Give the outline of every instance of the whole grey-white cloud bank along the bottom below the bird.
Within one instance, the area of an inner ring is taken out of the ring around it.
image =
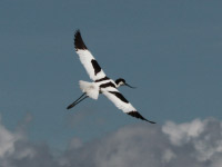
[[[57,156],[21,129],[10,131],[0,121],[1,167],[222,166],[222,121],[214,118],[131,125],[87,144],[73,138]]]

